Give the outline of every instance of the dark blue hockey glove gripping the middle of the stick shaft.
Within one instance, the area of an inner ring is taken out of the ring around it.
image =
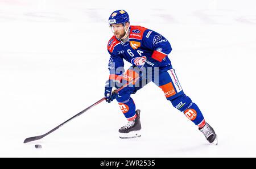
[[[117,98],[117,92],[112,91],[113,89],[118,87],[118,82],[114,82],[113,80],[108,80],[105,85],[105,97],[106,102],[110,103],[115,98]]]

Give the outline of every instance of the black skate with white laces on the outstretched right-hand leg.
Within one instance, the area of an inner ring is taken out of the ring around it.
[[[209,141],[209,143],[218,145],[217,134],[214,132],[213,128],[207,122],[205,122],[203,128],[199,128],[199,130],[204,134],[205,138]]]

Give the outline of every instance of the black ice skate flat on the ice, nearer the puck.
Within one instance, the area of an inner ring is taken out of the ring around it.
[[[137,109],[136,111],[136,119],[133,121],[129,121],[126,125],[122,126],[119,129],[119,137],[120,138],[135,138],[141,137],[141,121],[139,117],[139,113],[141,111]]]

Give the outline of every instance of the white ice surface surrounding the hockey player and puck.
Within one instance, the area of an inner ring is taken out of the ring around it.
[[[118,9],[170,41],[181,86],[218,146],[151,83],[133,95],[141,138],[118,137],[126,119],[115,101],[23,143],[104,96]],[[255,157],[255,30],[253,0],[0,1],[0,157]]]

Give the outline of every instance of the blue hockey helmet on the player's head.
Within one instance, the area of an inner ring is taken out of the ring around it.
[[[125,10],[116,10],[112,12],[112,14],[109,16],[109,24],[118,24],[122,23],[123,26],[125,26],[125,23],[129,22],[129,15]]]

